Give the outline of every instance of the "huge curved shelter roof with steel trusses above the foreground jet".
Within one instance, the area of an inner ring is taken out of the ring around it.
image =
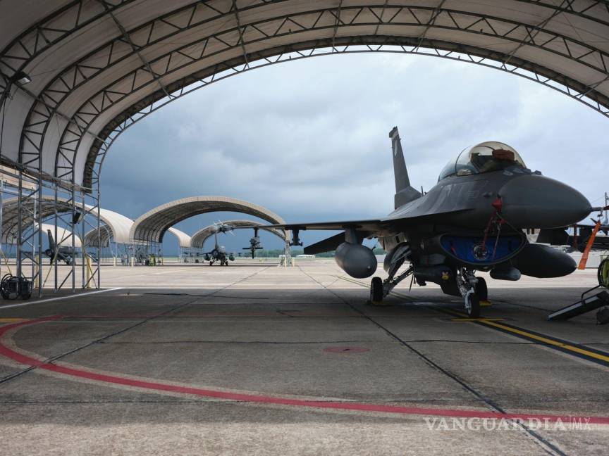
[[[0,158],[88,187],[113,139],[147,113],[320,53],[488,65],[609,115],[607,37],[609,0],[4,0]],[[10,83],[20,71],[23,87]]]

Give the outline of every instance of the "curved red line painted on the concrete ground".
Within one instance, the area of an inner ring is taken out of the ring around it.
[[[7,324],[6,326],[0,327],[0,338],[6,334],[7,331],[16,327],[23,327],[29,324],[37,324],[42,322],[49,322],[54,319],[61,317],[49,317],[40,318],[34,320],[28,320],[25,322],[17,322],[13,324]],[[238,400],[242,402],[250,403],[261,403],[261,404],[273,404],[273,405],[291,405],[295,407],[314,407],[314,408],[325,408],[333,410],[356,410],[359,412],[381,412],[390,414],[405,414],[405,415],[433,415],[441,417],[459,417],[459,418],[481,418],[481,419],[519,419],[522,421],[528,421],[533,419],[541,420],[542,422],[574,422],[576,420],[584,420],[589,424],[609,424],[609,417],[583,417],[583,416],[572,416],[572,415],[553,415],[553,414],[529,414],[529,413],[499,413],[499,412],[484,412],[481,410],[459,410],[459,409],[436,409],[436,408],[425,408],[425,407],[401,407],[398,405],[379,405],[379,404],[366,404],[366,403],[352,403],[352,402],[336,402],[336,401],[321,401],[321,400],[305,400],[305,399],[292,399],[292,398],[280,398],[276,396],[268,395],[257,395],[257,394],[245,394],[245,393],[231,393],[228,391],[215,391],[204,388],[194,388],[190,386],[176,386],[170,384],[162,384],[156,381],[141,381],[134,379],[126,379],[121,376],[96,374],[94,372],[87,372],[80,369],[73,369],[70,367],[64,367],[61,365],[52,364],[50,362],[39,361],[33,357],[18,353],[11,348],[8,348],[0,341],[0,355],[8,357],[9,359],[20,362],[23,365],[29,365],[37,367],[39,369],[45,369],[50,372],[56,372],[68,376],[74,376],[81,379],[90,379],[94,381],[101,381],[107,384],[133,386],[136,388],[145,388],[152,391],[168,391],[171,393],[182,393],[189,395],[198,395],[206,398],[217,398],[226,400]]]

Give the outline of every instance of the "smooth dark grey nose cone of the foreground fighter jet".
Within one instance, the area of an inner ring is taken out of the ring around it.
[[[576,189],[540,175],[511,179],[498,192],[502,216],[517,228],[558,228],[582,220],[591,204]]]

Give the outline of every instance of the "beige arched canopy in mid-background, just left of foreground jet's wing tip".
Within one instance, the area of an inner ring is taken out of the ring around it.
[[[163,242],[165,232],[176,223],[211,212],[238,212],[273,224],[285,223],[276,213],[254,203],[226,196],[191,196],[165,203],[141,215],[133,223],[129,236],[135,242]],[[190,239],[187,247],[190,247]]]

